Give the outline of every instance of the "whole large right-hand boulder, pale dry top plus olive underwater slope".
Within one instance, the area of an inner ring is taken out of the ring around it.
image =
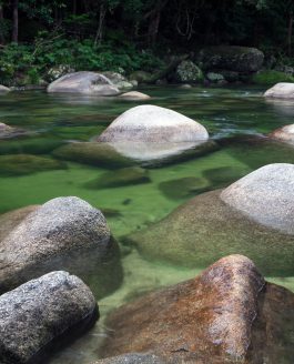
[[[239,185],[235,182],[223,193],[200,194],[162,221],[130,234],[124,242],[134,244],[149,259],[193,267],[241,253],[253,259],[264,274],[291,276],[294,274],[294,220],[290,213],[294,166],[283,168],[283,164],[268,165],[241,179],[244,193],[239,189],[234,192],[234,185]],[[230,196],[235,200],[231,202]]]

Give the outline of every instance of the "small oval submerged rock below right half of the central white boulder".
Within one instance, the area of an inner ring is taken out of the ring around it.
[[[193,196],[193,194],[203,192],[207,186],[207,180],[194,176],[164,181],[159,184],[161,192],[172,200]]]

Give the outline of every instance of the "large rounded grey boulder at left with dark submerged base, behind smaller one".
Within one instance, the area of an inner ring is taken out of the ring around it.
[[[0,292],[52,270],[67,270],[104,295],[120,285],[119,250],[100,210],[79,198],[48,201],[0,245]]]

